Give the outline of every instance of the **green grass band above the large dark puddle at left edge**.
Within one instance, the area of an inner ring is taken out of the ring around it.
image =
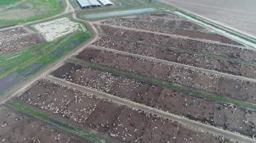
[[[43,66],[51,64],[90,38],[90,31],[76,31],[73,34],[65,36],[65,38],[52,42],[45,41],[42,44],[31,46],[24,51],[19,51],[14,55],[1,55],[0,79],[14,71],[22,72],[33,64],[41,64]]]

